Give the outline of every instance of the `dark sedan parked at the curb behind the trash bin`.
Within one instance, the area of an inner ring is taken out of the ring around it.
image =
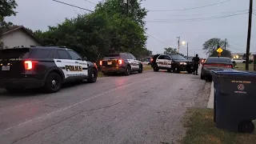
[[[201,79],[211,78],[210,70],[217,69],[234,69],[234,65],[227,57],[209,57],[202,63]]]

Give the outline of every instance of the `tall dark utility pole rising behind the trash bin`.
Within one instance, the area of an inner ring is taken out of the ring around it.
[[[251,21],[253,14],[253,0],[250,0],[249,6],[249,20],[248,20],[248,34],[247,34],[247,46],[246,46],[246,70],[249,70],[249,53],[250,53],[250,33],[251,33]]]

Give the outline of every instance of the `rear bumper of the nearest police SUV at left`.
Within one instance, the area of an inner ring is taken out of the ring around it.
[[[0,87],[31,89],[44,86],[46,81],[35,78],[2,78]]]

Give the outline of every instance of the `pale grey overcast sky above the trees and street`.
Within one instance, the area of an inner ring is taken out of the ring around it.
[[[81,6],[88,10],[94,10],[94,4],[98,0],[59,0],[75,6]],[[242,53],[246,51],[246,38],[248,27],[249,0],[146,0],[142,6],[148,12],[146,16],[147,33],[151,36],[147,40],[147,48],[154,54],[163,53],[163,48],[178,46],[177,37],[181,42],[189,42],[189,55],[194,53],[206,58],[202,50],[202,44],[210,38],[227,38],[232,52]],[[16,25],[29,27],[32,30],[47,30],[47,26],[56,26],[63,22],[64,18],[73,18],[77,14],[88,13],[66,6],[52,0],[16,0],[18,14],[15,17],[6,18]],[[209,6],[218,2],[219,5]],[[255,1],[254,1],[255,4]],[[206,6],[203,8],[190,8]],[[256,6],[254,6],[255,8]],[[184,10],[185,9],[185,10]],[[171,11],[154,11],[171,10]],[[230,16],[232,14],[240,14]],[[256,14],[256,8],[254,10]],[[256,20],[253,15],[252,35],[250,51],[256,52]],[[222,17],[222,18],[220,18]],[[224,18],[223,18],[224,17]],[[210,20],[209,20],[210,19]],[[180,49],[186,54],[186,46]]]

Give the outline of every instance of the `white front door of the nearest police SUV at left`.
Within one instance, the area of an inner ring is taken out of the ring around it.
[[[73,50],[68,50],[71,61],[77,68],[74,69],[74,74],[78,76],[88,76],[88,65],[86,61],[82,61],[82,57]]]

